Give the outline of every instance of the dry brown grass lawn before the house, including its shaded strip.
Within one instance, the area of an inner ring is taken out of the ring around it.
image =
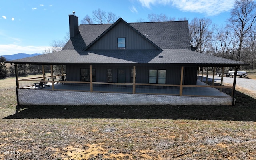
[[[255,160],[256,99],[235,106],[18,106],[0,80],[0,160]]]

